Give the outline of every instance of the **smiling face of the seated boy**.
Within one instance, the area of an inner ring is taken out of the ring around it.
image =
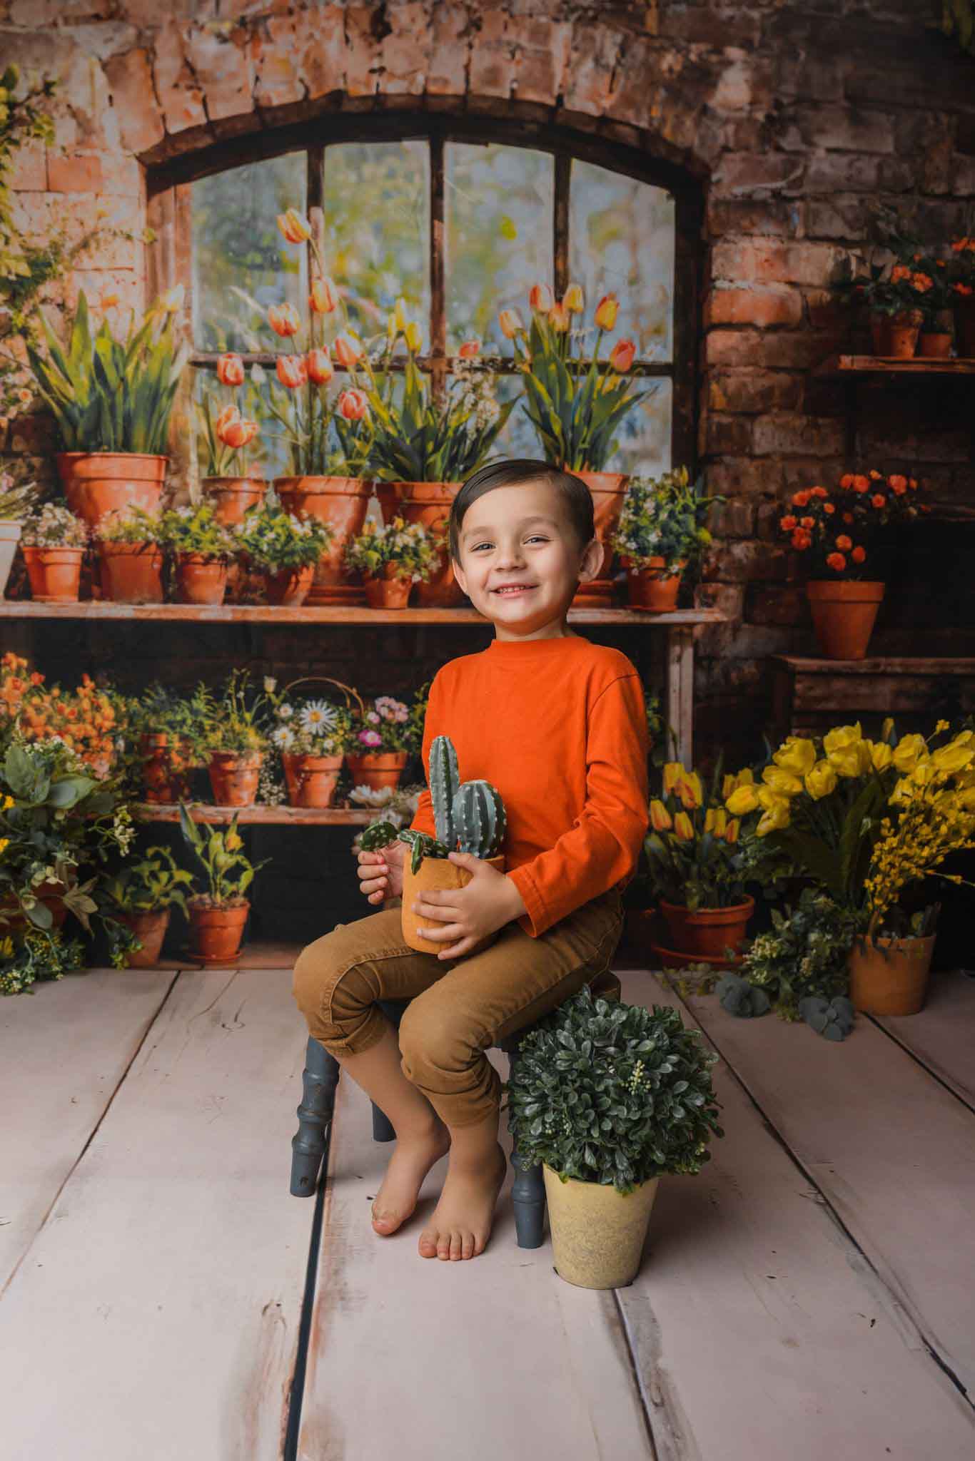
[[[510,625],[519,637],[564,619],[580,580],[595,579],[602,543],[592,538],[579,549],[561,495],[548,482],[496,487],[463,516],[458,583],[503,637]],[[503,584],[517,593],[500,593]]]

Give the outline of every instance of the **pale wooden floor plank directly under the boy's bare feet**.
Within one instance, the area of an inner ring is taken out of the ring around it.
[[[491,1059],[506,1078],[501,1052]],[[446,1157],[412,1218],[390,1237],[373,1232],[390,1151],[373,1141],[364,1093],[339,1080],[301,1461],[649,1461],[614,1297],[563,1283],[548,1239],[517,1248],[510,1166],[487,1249],[441,1262],[417,1240]]]

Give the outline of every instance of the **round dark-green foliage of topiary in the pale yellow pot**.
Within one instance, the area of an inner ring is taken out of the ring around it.
[[[507,1083],[519,1160],[617,1192],[700,1172],[712,1134],[724,1137],[716,1062],[677,1010],[593,999],[586,986],[520,1042]]]

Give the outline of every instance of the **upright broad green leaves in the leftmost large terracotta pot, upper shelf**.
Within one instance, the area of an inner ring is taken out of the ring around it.
[[[48,355],[28,343],[28,358],[44,402],[54,413],[64,451],[146,451],[165,454],[170,415],[189,345],[175,343],[174,305],[162,295],[124,340],[104,318],[92,335],[82,289],[67,348],[41,314]]]

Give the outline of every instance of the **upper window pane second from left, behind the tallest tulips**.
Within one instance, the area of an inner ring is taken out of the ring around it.
[[[344,142],[325,149],[325,267],[346,295],[349,321],[386,330],[399,295],[430,348],[430,148]],[[401,345],[402,348],[402,345]]]

